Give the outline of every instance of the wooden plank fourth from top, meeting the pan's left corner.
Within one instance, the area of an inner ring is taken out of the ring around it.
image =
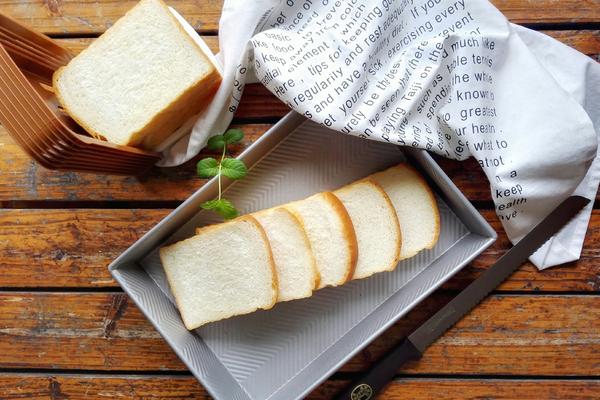
[[[107,265],[170,210],[0,210],[0,287],[117,287]],[[499,237],[444,285],[460,290],[510,248],[498,219],[482,211]],[[499,290],[600,291],[600,210],[594,210],[581,259],[539,272],[523,265]]]

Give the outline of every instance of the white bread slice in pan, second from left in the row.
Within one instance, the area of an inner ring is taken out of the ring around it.
[[[310,297],[320,280],[302,224],[290,211],[282,207],[252,214],[267,234],[279,283],[277,301]]]

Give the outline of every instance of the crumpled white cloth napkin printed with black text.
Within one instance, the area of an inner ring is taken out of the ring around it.
[[[222,133],[258,80],[334,130],[475,157],[513,243],[569,195],[596,195],[600,65],[486,0],[226,0],[219,28],[223,84],[164,166]],[[591,210],[531,261],[578,259]]]

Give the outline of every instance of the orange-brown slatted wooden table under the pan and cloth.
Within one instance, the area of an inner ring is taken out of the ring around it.
[[[598,0],[494,2],[513,22],[598,59]],[[216,51],[221,0],[169,3]],[[0,0],[0,12],[79,51],[133,4]],[[247,88],[235,120],[246,139],[237,150],[286,112],[264,88]],[[311,398],[329,398],[509,248],[478,166],[439,162],[499,232],[497,243]],[[106,268],[203,183],[193,164],[143,179],[48,171],[0,127],[0,398],[208,397]],[[600,398],[598,257],[594,210],[579,262],[544,272],[523,266],[420,362],[398,371],[382,398]]]

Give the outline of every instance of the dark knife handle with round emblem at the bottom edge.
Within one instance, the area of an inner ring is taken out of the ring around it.
[[[390,382],[398,369],[407,361],[418,360],[421,352],[408,338],[389,354],[377,361],[371,369],[352,382],[336,400],[370,400]]]

